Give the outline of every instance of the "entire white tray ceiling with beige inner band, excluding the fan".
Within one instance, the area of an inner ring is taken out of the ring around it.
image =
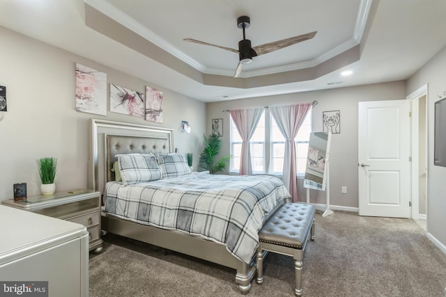
[[[444,0],[85,2],[2,0],[0,26],[203,102],[407,79],[446,46]],[[233,79],[237,54],[183,38],[238,49],[241,15],[253,46],[318,33]]]

